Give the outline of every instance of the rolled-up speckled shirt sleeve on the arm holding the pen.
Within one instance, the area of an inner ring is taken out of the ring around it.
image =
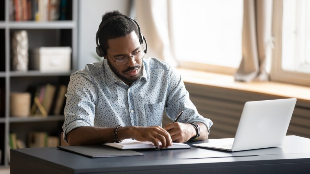
[[[185,89],[182,77],[174,68],[170,68],[169,76],[170,81],[166,102],[167,116],[174,120],[180,111],[184,111],[178,120],[180,123],[201,122],[206,125],[208,133],[210,133],[210,127],[213,125],[213,122],[198,113],[195,105],[189,99],[189,94]]]

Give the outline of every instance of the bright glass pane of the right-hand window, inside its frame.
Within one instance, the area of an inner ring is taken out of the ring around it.
[[[310,73],[310,1],[283,1],[282,69]]]

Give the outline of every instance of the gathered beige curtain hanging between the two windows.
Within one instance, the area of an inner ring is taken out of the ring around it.
[[[242,60],[235,80],[266,81],[267,60],[271,56],[272,0],[244,0]]]

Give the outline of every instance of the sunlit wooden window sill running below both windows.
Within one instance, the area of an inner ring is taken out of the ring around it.
[[[256,94],[267,94],[281,98],[297,98],[302,102],[310,102],[310,87],[306,86],[270,81],[245,83],[235,81],[232,75],[195,71],[184,68],[177,68],[177,70],[181,74],[183,81],[186,83],[237,91],[247,91]]]

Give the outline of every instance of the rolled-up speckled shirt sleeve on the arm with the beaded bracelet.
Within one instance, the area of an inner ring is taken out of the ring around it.
[[[76,72],[70,76],[62,127],[66,142],[67,133],[74,128],[94,126],[96,90],[91,80],[85,72]]]

